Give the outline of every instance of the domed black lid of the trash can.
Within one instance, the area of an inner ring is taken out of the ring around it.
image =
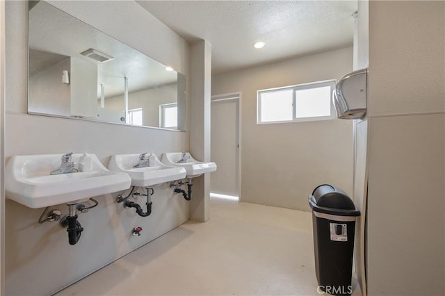
[[[329,184],[317,186],[309,195],[309,206],[313,211],[333,215],[359,216],[354,202],[346,192]]]

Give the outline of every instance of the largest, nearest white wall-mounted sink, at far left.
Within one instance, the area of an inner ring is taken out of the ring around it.
[[[74,204],[97,195],[126,190],[130,187],[127,174],[106,169],[95,154],[91,172],[50,175],[60,166],[62,154],[12,156],[6,165],[6,198],[29,208],[56,204]],[[79,163],[83,154],[72,154]]]

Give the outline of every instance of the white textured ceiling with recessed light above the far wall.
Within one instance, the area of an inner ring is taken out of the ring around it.
[[[350,46],[357,10],[357,0],[137,2],[188,42],[209,41],[213,74]]]

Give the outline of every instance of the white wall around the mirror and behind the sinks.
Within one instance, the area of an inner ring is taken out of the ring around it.
[[[188,73],[186,42],[136,2],[54,4]],[[184,132],[26,115],[27,13],[26,1],[6,2],[6,161],[15,154],[63,154],[88,149],[108,165],[113,154],[153,150],[161,157],[164,151],[188,149],[188,133]],[[43,208],[31,209],[7,200],[6,295],[51,295],[188,220],[188,202],[173,195],[168,186],[155,188],[149,217],[139,217],[122,204],[115,204],[117,194],[97,197],[99,206],[79,215],[85,230],[74,246],[67,242],[66,229],[57,223],[38,224]],[[144,204],[143,199],[139,203]],[[54,208],[67,213],[65,205]],[[136,226],[143,227],[140,237],[131,236]],[[123,271],[122,277],[131,277],[131,273]]]

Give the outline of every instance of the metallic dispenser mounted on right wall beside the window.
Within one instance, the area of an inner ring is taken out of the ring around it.
[[[360,69],[341,77],[335,85],[334,100],[337,117],[362,119],[366,115],[368,69]]]

